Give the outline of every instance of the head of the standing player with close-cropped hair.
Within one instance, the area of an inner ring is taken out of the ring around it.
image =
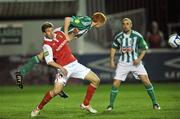
[[[124,33],[128,33],[131,31],[132,21],[130,18],[124,18],[121,23],[122,23],[122,30]]]

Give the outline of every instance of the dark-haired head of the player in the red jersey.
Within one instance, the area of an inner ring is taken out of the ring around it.
[[[41,30],[44,34],[44,36],[46,36],[47,38],[52,39],[54,37],[54,25],[50,22],[45,22],[43,23],[43,25],[41,26]]]

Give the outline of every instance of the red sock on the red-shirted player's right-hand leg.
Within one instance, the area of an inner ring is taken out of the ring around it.
[[[86,92],[86,97],[84,99],[83,104],[85,106],[89,105],[89,102],[95,92],[96,88],[94,86],[92,86],[91,84],[88,86],[87,92]]]

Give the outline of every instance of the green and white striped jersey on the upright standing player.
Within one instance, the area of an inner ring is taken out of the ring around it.
[[[140,50],[147,50],[148,46],[143,36],[132,30],[129,35],[120,32],[114,37],[112,48],[119,49],[119,61],[131,63],[139,56]]]

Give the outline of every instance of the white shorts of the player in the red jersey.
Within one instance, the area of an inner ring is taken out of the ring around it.
[[[85,76],[91,71],[89,68],[85,67],[84,65],[80,64],[77,60],[65,65],[63,68],[65,68],[68,72],[66,77],[61,76],[61,72],[57,72],[55,83],[61,83],[64,86],[66,85],[67,80],[70,77],[84,79]]]

